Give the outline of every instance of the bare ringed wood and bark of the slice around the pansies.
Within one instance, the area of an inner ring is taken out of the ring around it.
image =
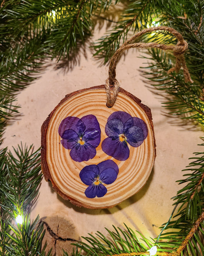
[[[107,138],[107,119],[115,111],[125,111],[132,117],[144,120],[148,128],[147,138],[139,147],[128,145],[130,155],[126,161],[116,160],[101,149],[102,141]],[[93,159],[76,162],[70,157],[70,150],[65,149],[60,143],[58,128],[67,116],[82,118],[86,115],[96,116],[101,128],[101,142]],[[104,85],[66,95],[44,121],[41,134],[42,171],[46,181],[51,181],[54,190],[62,198],[86,208],[110,208],[137,193],[145,185],[156,156],[150,108],[122,88],[112,108],[106,106]],[[117,179],[112,184],[105,185],[108,191],[103,197],[87,198],[85,190],[88,186],[81,181],[80,171],[87,165],[98,165],[109,159],[118,165]]]

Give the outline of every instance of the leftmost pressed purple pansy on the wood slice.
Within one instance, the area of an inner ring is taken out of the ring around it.
[[[100,125],[96,116],[68,116],[60,123],[58,132],[62,145],[70,149],[70,156],[74,161],[88,161],[96,155],[96,147],[101,140]]]

